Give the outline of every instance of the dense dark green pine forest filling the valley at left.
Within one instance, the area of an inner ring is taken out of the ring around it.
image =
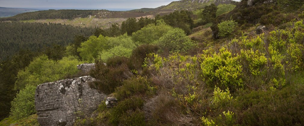
[[[0,61],[20,49],[36,51],[44,47],[68,45],[75,35],[90,36],[94,28],[47,23],[0,22]]]

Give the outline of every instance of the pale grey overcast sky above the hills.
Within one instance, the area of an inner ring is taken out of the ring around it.
[[[156,8],[178,0],[0,0],[15,8]],[[239,1],[239,0],[235,0]]]

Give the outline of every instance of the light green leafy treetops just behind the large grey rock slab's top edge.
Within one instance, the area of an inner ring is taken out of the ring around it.
[[[56,62],[48,59],[46,55],[41,55],[24,70],[18,72],[15,90],[23,89],[26,85],[37,86],[63,79],[67,75],[74,75],[78,72],[77,65],[79,64],[81,62],[73,56],[64,57]]]

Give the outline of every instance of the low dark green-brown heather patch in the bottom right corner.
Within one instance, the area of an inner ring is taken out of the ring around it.
[[[276,91],[251,91],[233,102],[240,125],[303,125],[303,86],[290,85]]]

